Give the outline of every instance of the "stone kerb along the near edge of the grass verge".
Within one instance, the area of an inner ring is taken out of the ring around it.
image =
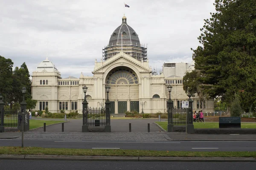
[[[147,157],[147,156],[64,156],[64,155],[0,155],[0,159],[72,160],[72,161],[200,161],[200,162],[256,162],[241,157]]]

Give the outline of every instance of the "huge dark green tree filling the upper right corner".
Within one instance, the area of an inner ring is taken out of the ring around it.
[[[230,101],[239,93],[244,111],[256,107],[256,1],[215,0],[193,50],[204,93]],[[253,105],[253,106],[252,106]]]

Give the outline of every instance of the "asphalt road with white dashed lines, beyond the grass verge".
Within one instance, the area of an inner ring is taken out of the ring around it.
[[[21,139],[0,139],[0,146],[21,146]],[[24,140],[25,147],[117,148],[169,151],[256,151],[256,141],[83,141]]]

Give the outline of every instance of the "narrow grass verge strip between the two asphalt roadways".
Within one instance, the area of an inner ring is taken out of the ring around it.
[[[168,156],[168,157],[254,157],[256,152],[190,152],[155,150],[67,149],[42,147],[0,147],[0,154],[73,156]]]

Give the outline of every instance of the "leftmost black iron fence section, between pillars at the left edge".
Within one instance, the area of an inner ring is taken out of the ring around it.
[[[12,110],[12,109],[4,110],[3,126],[4,127],[17,127],[19,112],[20,112],[20,110]]]

